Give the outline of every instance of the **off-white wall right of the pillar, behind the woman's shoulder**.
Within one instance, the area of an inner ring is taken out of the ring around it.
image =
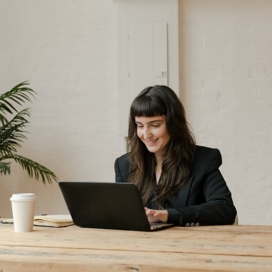
[[[272,224],[272,1],[180,0],[180,97],[240,224]]]

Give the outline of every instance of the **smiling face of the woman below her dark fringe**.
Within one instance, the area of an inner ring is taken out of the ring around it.
[[[170,140],[166,129],[166,116],[135,117],[137,135],[147,147],[149,152],[155,155],[163,155],[165,146]]]

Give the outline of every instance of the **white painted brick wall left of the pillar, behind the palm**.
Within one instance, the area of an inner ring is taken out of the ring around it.
[[[114,181],[125,153],[117,126],[117,15],[113,0],[1,0],[0,92],[29,80],[38,92],[18,153],[60,180]],[[36,213],[65,213],[57,183],[28,178],[14,162],[0,177],[0,216],[15,192],[37,194]]]

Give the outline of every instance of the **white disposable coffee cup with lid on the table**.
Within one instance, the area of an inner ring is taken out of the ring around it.
[[[14,193],[10,197],[15,232],[33,231],[35,193]]]

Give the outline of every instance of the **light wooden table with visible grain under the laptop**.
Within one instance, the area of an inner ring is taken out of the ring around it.
[[[0,224],[0,271],[272,271],[272,226],[155,232]]]

